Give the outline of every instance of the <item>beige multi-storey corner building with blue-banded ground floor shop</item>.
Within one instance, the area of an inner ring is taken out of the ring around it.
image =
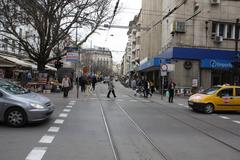
[[[235,64],[240,1],[143,0],[142,4],[141,24],[150,30],[141,35],[140,57],[148,61],[141,63],[140,71],[157,81],[155,85],[162,84],[162,64],[175,68],[165,79],[176,81],[179,88],[239,84]]]

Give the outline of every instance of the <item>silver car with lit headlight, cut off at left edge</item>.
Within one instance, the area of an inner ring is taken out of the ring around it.
[[[0,121],[21,127],[28,122],[45,120],[53,111],[47,97],[0,79]]]

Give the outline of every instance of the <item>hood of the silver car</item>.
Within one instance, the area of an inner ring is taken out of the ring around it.
[[[30,92],[26,94],[18,94],[11,97],[14,98],[15,100],[29,102],[29,103],[46,104],[50,102],[50,100],[47,97],[34,92]]]

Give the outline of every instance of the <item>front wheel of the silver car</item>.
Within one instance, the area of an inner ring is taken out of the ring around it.
[[[5,121],[9,126],[22,127],[27,122],[27,116],[21,108],[11,108],[5,114]]]

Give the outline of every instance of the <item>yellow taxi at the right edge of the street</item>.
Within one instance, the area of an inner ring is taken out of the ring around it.
[[[240,86],[213,86],[189,97],[188,105],[195,111],[240,111]]]

